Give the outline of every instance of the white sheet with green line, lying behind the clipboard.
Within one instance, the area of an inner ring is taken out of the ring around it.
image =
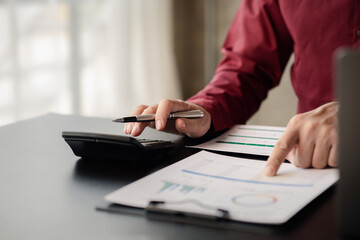
[[[284,127],[235,125],[217,138],[188,147],[269,156],[284,131]]]

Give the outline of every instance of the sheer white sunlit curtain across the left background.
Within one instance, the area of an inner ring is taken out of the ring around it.
[[[0,124],[181,98],[170,0],[0,3]]]

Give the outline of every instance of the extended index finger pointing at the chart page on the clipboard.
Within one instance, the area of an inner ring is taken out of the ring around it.
[[[266,176],[275,176],[281,163],[284,162],[288,153],[292,150],[299,140],[299,132],[293,128],[287,128],[267,160],[264,174]]]

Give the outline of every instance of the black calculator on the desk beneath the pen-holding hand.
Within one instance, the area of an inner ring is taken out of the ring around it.
[[[175,147],[171,141],[102,133],[65,131],[62,132],[62,137],[76,156],[91,159],[149,157]]]

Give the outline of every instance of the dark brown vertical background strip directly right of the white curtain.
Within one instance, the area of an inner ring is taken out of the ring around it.
[[[204,87],[204,1],[173,1],[175,55],[185,99]]]

